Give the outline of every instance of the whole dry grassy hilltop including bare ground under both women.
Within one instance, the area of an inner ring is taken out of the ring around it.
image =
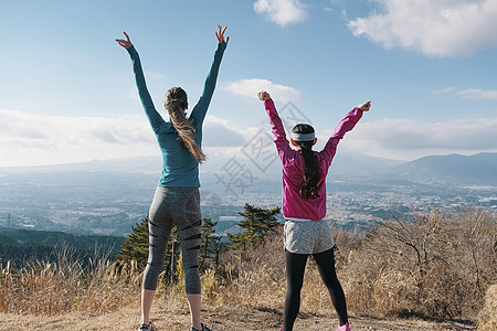
[[[494,213],[474,210],[393,220],[362,236],[334,228],[336,268],[352,330],[457,330],[457,320],[495,325],[496,226]],[[134,249],[141,252],[141,245]],[[277,330],[286,293],[278,228],[261,244],[211,253],[201,271],[205,322],[218,331]],[[133,330],[147,256],[137,258],[88,257],[86,267],[70,258],[1,266],[0,329]],[[181,263],[170,266],[160,278],[152,318],[161,330],[184,330],[184,276]],[[334,330],[336,324],[329,295],[309,259],[297,328]]]

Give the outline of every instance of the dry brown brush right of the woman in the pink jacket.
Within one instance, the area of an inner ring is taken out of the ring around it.
[[[414,223],[381,224],[348,256],[341,271],[358,311],[475,319],[497,281],[496,215],[433,212]],[[353,280],[353,281],[350,281]]]

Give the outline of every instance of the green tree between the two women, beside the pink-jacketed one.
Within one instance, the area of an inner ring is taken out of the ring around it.
[[[272,232],[278,225],[275,215],[279,214],[279,207],[265,210],[245,203],[244,209],[243,213],[239,212],[240,215],[245,217],[239,222],[239,226],[245,229],[239,234],[228,234],[233,243],[230,248],[257,245],[264,239],[266,233]]]

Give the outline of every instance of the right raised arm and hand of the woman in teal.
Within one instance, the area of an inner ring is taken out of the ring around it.
[[[218,31],[215,32],[215,38],[218,40],[218,50],[214,53],[214,60],[212,62],[211,70],[209,71],[209,74],[205,78],[203,93],[190,115],[190,118],[194,119],[199,124],[203,122],[207,110],[209,108],[209,104],[212,99],[212,95],[214,94],[219,67],[221,65],[224,50],[226,49],[228,42],[230,40],[229,36],[226,36],[226,39],[224,40],[224,32],[226,31],[226,28],[228,26],[224,26],[224,29],[222,29],[221,25],[218,25]]]

